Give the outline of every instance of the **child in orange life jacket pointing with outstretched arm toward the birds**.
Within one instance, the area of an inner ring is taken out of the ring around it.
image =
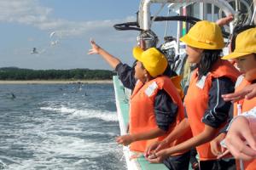
[[[89,54],[100,54],[119,75],[125,88],[133,90],[130,101],[129,134],[119,136],[119,144],[131,144],[131,150],[144,152],[148,144],[161,141],[184,118],[183,102],[172,84],[170,66],[164,54],[157,48],[134,48],[137,59],[135,70],[124,65],[113,55],[91,41]],[[190,137],[176,139],[171,145],[178,144]],[[170,169],[187,169],[189,151],[177,153],[165,161]]]

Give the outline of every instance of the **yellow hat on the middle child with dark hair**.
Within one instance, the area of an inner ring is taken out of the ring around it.
[[[189,32],[180,38],[191,47],[201,49],[222,49],[224,38],[220,27],[214,22],[201,20],[192,26]]]

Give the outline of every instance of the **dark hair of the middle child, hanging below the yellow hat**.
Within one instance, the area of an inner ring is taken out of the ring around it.
[[[197,64],[198,78],[199,80],[203,76],[207,76],[207,73],[211,71],[212,65],[220,58],[221,49],[205,49],[202,53],[201,60]]]

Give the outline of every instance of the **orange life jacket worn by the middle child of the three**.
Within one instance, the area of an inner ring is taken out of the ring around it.
[[[189,89],[184,99],[193,136],[197,136],[204,131],[205,124],[201,122],[201,119],[208,108],[209,91],[212,88],[212,79],[228,77],[233,82],[236,82],[238,76],[239,71],[237,71],[229,61],[221,59],[218,59],[212,66],[212,70],[206,77],[202,77],[200,81],[198,81],[197,71],[195,71],[189,82]],[[221,98],[221,96],[219,97]],[[196,150],[201,161],[217,159],[217,157],[212,154],[209,142],[197,146]]]

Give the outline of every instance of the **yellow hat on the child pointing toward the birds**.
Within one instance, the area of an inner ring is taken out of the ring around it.
[[[148,48],[145,51],[142,48],[133,48],[133,56],[143,63],[151,77],[157,77],[166,71],[168,65],[166,56],[156,48]]]

